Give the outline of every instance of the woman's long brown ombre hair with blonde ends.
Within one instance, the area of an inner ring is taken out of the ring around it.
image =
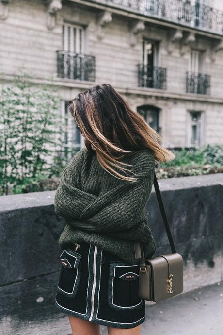
[[[162,137],[110,84],[96,85],[79,93],[69,101],[68,108],[85,137],[87,150],[94,148],[101,167],[119,179],[137,180],[112,168],[132,172],[121,166],[131,166],[120,161],[126,154],[151,149],[156,163],[175,158],[161,146]]]

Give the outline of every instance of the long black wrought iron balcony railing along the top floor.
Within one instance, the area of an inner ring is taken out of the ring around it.
[[[194,0],[91,0],[200,30],[223,33],[223,11]]]

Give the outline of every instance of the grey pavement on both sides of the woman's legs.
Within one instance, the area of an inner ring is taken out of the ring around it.
[[[25,314],[3,317],[0,334],[71,335],[67,316],[52,306]],[[101,331],[107,335],[106,327]],[[223,335],[223,282],[147,306],[142,335]]]

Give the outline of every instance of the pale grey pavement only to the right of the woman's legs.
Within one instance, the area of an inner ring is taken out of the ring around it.
[[[142,335],[223,335],[223,282],[147,307]]]

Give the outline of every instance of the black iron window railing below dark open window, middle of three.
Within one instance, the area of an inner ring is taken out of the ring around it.
[[[163,67],[138,64],[138,85],[166,89],[166,69]]]

